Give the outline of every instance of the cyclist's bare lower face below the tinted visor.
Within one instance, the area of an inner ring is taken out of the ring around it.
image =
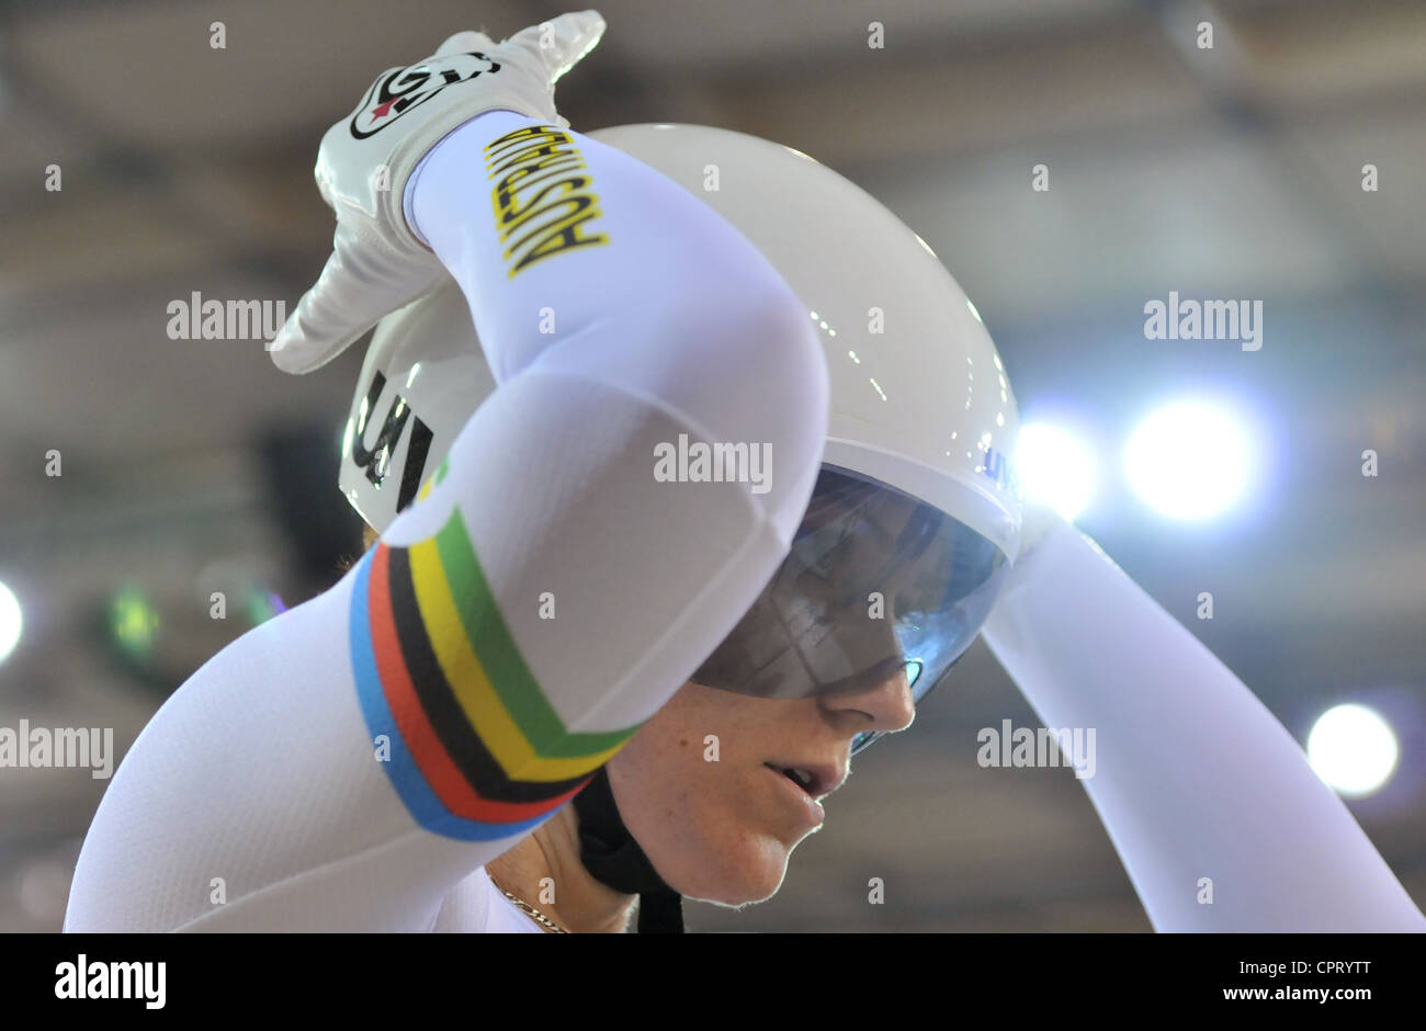
[[[690,682],[609,761],[609,783],[670,887],[724,906],[763,901],[793,848],[820,829],[811,796],[846,779],[853,739],[903,730],[913,717],[904,670],[820,699],[757,699]],[[787,767],[817,780],[800,787]]]

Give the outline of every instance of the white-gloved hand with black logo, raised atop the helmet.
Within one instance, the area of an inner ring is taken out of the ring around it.
[[[317,185],[337,212],[332,257],[268,345],[287,372],[329,362],[445,270],[406,225],[402,198],[421,158],[463,123],[505,110],[568,128],[555,83],[599,43],[597,11],[560,14],[496,44],[456,33],[419,64],[388,68],[317,153]]]

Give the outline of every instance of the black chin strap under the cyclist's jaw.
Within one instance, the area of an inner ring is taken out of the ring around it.
[[[579,858],[595,880],[639,896],[639,934],[683,934],[683,897],[663,883],[625,827],[603,769],[575,796]]]

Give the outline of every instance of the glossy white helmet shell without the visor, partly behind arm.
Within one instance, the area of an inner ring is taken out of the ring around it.
[[[1015,559],[1015,395],[974,305],[920,237],[856,184],[767,140],[670,124],[589,135],[713,207],[803,301],[831,382],[826,463],[935,505]],[[386,529],[493,388],[453,281],[382,319],[339,476],[368,523]]]

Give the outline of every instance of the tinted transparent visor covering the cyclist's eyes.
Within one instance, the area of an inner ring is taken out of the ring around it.
[[[920,702],[980,633],[1008,569],[941,509],[824,465],[783,565],[693,680],[796,699],[904,674]]]

